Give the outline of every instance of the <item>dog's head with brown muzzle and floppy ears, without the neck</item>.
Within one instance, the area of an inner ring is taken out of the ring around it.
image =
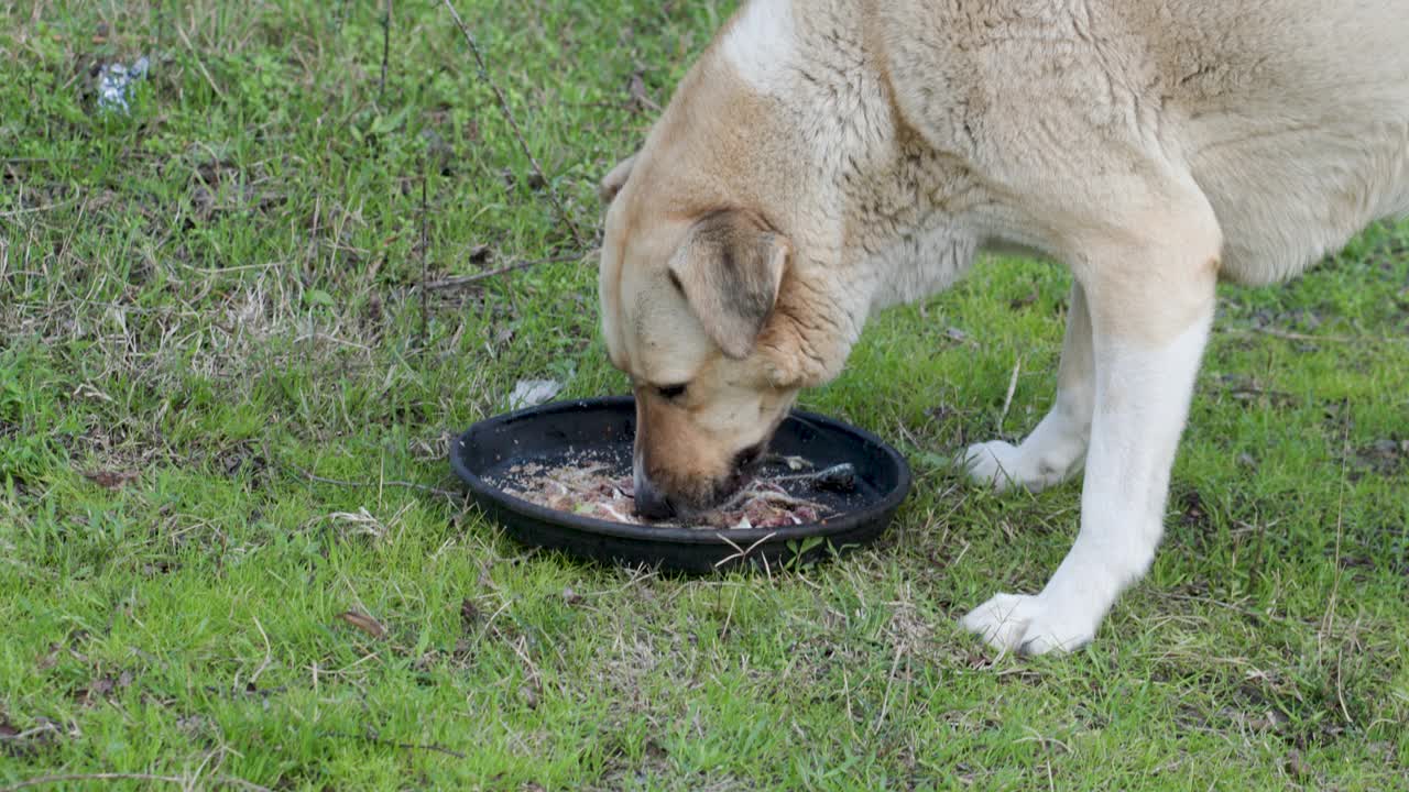
[[[635,395],[637,507],[707,509],[747,481],[802,386],[759,342],[790,242],[747,209],[657,218],[640,238],[620,214],[607,225],[603,333]]]

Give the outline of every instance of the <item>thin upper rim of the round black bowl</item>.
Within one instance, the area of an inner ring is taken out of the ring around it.
[[[497,426],[507,424],[511,421],[519,421],[524,419],[531,419],[535,416],[548,416],[555,413],[569,413],[569,412],[583,412],[593,409],[607,409],[619,410],[621,407],[634,407],[635,399],[633,396],[596,396],[589,399],[564,399],[557,402],[548,402],[534,407],[526,407],[521,410],[514,410],[510,413],[500,413],[497,416],[480,420],[466,428],[459,437],[455,438],[455,447],[451,448],[451,466],[455,474],[465,482],[465,485],[475,495],[476,500],[480,503],[493,503],[497,509],[503,509],[527,517],[531,520],[550,523],[559,528],[575,528],[586,534],[600,534],[620,537],[626,540],[635,541],[654,541],[654,543],[674,543],[674,544],[727,544],[735,545],[737,550],[745,551],[757,543],[778,543],[778,541],[792,541],[803,538],[827,538],[836,534],[844,534],[855,530],[868,523],[876,520],[885,520],[888,516],[900,506],[900,503],[910,493],[910,485],[913,476],[910,474],[910,465],[906,462],[905,457],[896,451],[890,444],[885,443],[875,434],[851,426],[848,423],[840,421],[823,416],[820,413],[813,413],[807,410],[789,410],[788,420],[802,420],[812,424],[824,426],[831,431],[840,431],[843,434],[851,435],[852,438],[861,441],[862,444],[871,444],[876,447],[882,457],[893,466],[896,472],[896,483],[889,490],[881,493],[881,497],[872,503],[862,506],[861,509],[845,512],[836,517],[828,517],[817,520],[814,523],[803,523],[800,526],[783,526],[783,527],[769,527],[769,528],[689,528],[681,526],[650,526],[650,524],[633,524],[633,523],[617,523],[613,520],[602,520],[597,517],[583,517],[581,514],[571,514],[568,512],[559,512],[557,509],[550,509],[547,506],[540,506],[537,503],[530,503],[507,492],[493,486],[478,474],[469,469],[465,464],[462,451],[468,447],[471,435],[476,433],[483,433],[493,430]],[[727,537],[727,538],[726,538]]]

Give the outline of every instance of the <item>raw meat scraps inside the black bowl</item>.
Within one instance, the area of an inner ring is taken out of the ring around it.
[[[652,521],[635,513],[630,464],[614,459],[521,462],[497,482],[509,495],[582,517],[614,523],[699,528],[776,528],[823,521],[838,513],[837,495],[855,489],[850,464],[817,468],[800,457],[769,457],[758,475],[712,512]]]

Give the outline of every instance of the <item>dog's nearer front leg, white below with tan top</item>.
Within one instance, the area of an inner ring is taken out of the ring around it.
[[[1150,266],[1143,271],[1089,262],[1095,410],[1081,530],[1041,593],[1000,593],[964,617],[964,627],[992,645],[1043,654],[1091,641],[1120,592],[1154,559],[1213,318],[1213,240],[1212,254],[1193,247],[1203,255],[1146,249],[1140,258]]]

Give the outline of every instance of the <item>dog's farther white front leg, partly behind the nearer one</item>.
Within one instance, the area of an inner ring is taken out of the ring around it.
[[[1053,409],[1020,445],[1002,440],[971,445],[964,454],[969,476],[998,490],[1019,486],[1037,492],[1067,481],[1086,457],[1093,395],[1086,293],[1081,283],[1072,283]]]

